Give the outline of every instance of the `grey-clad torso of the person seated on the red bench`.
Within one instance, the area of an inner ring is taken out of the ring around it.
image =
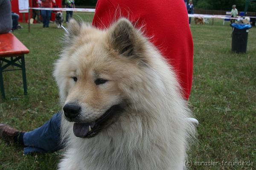
[[[0,0],[0,34],[12,29],[12,9],[10,0]]]

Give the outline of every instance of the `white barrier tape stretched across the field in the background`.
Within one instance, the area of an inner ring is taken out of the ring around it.
[[[95,12],[93,8],[30,8],[38,10],[51,10],[51,11],[76,11],[76,12]],[[220,19],[237,19],[235,17],[228,17],[227,15],[209,15],[209,14],[188,14],[189,17],[203,17],[203,18],[220,18]],[[256,18],[256,17],[250,17]]]

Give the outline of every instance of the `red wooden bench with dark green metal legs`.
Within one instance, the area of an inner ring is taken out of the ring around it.
[[[12,33],[0,34],[0,91],[3,98],[5,98],[3,86],[4,71],[22,70],[24,95],[27,94],[24,54],[28,53],[29,49]],[[16,66],[18,69],[6,69],[9,66]]]

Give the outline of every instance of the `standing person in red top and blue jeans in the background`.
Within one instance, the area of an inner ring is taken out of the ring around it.
[[[52,3],[55,3],[55,0],[41,0],[41,8],[52,8]],[[43,18],[43,28],[49,27],[51,13],[52,11],[50,10],[41,10]]]

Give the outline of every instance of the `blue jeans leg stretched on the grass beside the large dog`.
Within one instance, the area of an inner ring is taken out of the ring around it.
[[[54,152],[63,146],[60,141],[61,112],[55,113],[43,126],[23,136],[24,154]]]

